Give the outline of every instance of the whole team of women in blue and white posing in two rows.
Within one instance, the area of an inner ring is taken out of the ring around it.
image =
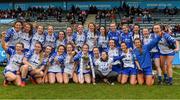
[[[161,25],[155,24],[150,31],[138,25],[117,30],[115,23],[109,29],[96,29],[89,23],[84,29],[78,25],[55,33],[51,25],[46,31],[42,25],[15,22],[2,32],[1,44],[8,55],[3,85],[26,86],[30,80],[33,84],[113,85],[117,81],[151,86],[153,66],[158,84],[172,85],[172,61],[179,43]]]

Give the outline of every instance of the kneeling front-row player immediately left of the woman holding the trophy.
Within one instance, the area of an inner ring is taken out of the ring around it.
[[[69,80],[72,78],[75,83],[78,83],[78,76],[75,72],[75,65],[73,61],[73,57],[75,56],[76,52],[74,51],[74,46],[71,43],[68,43],[66,46],[66,55],[64,62],[64,72],[63,72],[63,80],[64,83],[69,83]]]

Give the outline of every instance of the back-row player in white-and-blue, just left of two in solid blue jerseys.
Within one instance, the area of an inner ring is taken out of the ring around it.
[[[105,27],[100,27],[100,34],[97,39],[97,47],[99,47],[99,50],[102,52],[103,50],[106,50],[108,46],[108,37]]]

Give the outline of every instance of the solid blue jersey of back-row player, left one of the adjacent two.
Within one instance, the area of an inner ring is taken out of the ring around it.
[[[116,46],[117,47],[120,47],[120,32],[119,31],[116,31],[116,32],[111,32],[111,31],[109,31],[108,32],[108,40],[110,40],[110,39],[113,39],[113,40],[115,40],[115,44],[116,44]]]

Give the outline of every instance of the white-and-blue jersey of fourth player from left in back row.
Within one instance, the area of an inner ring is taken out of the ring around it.
[[[52,35],[45,33],[44,47],[51,46],[52,48],[55,48],[56,39],[57,36],[55,35],[55,33],[53,33]]]

